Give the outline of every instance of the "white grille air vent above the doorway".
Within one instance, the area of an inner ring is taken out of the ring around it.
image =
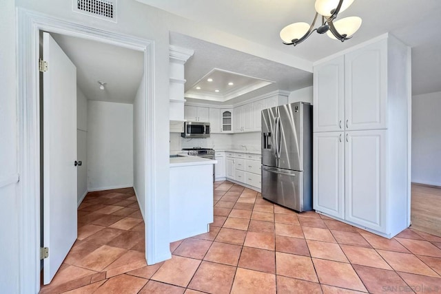
[[[116,0],[73,0],[74,12],[116,23]]]

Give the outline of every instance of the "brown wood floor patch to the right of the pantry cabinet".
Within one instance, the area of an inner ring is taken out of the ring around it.
[[[441,236],[441,189],[412,184],[412,229]]]

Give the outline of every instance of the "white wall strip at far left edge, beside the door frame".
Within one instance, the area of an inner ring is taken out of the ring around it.
[[[19,293],[19,194],[14,0],[0,1],[0,285]]]

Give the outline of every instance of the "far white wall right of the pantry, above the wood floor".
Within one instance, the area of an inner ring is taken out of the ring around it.
[[[412,97],[412,182],[441,186],[441,92]]]

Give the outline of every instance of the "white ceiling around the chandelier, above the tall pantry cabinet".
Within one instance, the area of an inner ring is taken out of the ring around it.
[[[413,94],[441,91],[440,0],[356,0],[339,15],[362,18],[353,39],[341,43],[314,33],[295,48],[283,45],[279,32],[289,23],[311,23],[314,0],[137,1],[311,62],[391,32],[412,48]]]

